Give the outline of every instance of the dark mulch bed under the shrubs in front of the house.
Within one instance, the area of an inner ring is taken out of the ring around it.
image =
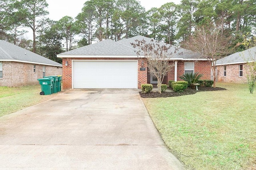
[[[216,87],[216,88],[198,87],[198,91],[196,91],[196,88],[187,88],[186,90],[184,90],[184,92],[162,92],[162,94],[158,92],[150,92],[150,93],[139,92],[139,93],[140,93],[140,97],[142,98],[168,98],[168,97],[196,94],[196,92],[208,92],[208,91],[216,91],[216,90],[226,90],[226,89],[220,88],[220,87]]]

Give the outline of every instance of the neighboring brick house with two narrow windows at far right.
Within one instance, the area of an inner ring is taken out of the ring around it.
[[[256,61],[256,47],[216,61],[218,82],[247,83],[246,63],[253,61]]]

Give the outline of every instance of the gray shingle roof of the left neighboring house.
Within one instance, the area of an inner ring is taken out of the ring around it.
[[[60,63],[23,49],[17,45],[8,43],[4,40],[0,40],[0,61],[19,61],[25,63],[62,66]]]

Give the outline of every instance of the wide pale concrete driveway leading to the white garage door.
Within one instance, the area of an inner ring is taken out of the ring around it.
[[[138,90],[73,89],[0,118],[0,169],[162,169],[166,149]]]

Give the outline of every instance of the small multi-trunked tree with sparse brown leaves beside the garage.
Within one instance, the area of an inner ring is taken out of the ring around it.
[[[159,41],[150,42],[146,40],[135,40],[135,43],[131,43],[134,48],[138,49],[138,57],[145,57],[147,59],[147,66],[150,74],[153,74],[157,78],[158,92],[162,93],[161,85],[167,72],[174,66],[170,62],[172,53],[170,53],[171,45],[161,43]],[[176,49],[175,49],[176,53]]]

